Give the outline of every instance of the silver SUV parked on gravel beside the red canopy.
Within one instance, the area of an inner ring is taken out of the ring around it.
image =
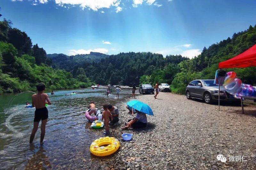
[[[205,103],[210,104],[219,99],[219,86],[213,84],[214,80],[193,80],[186,87],[187,99],[199,98]],[[220,86],[220,100],[239,101],[233,95],[225,91],[223,86]]]

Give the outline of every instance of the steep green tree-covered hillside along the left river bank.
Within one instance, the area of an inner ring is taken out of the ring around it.
[[[12,22],[0,21],[0,93],[36,90],[42,82],[49,90],[87,87],[86,77],[78,81],[72,75],[51,67],[52,60],[25,32],[12,28]]]

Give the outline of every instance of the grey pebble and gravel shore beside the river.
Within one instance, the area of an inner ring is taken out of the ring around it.
[[[110,129],[110,136],[120,140],[119,150],[107,158],[93,158],[103,169],[256,169],[256,111],[239,105],[208,105],[201,100],[187,100],[185,95],[160,92],[137,95],[148,104],[154,116],[147,116],[145,129],[121,130],[128,114],[119,103],[120,124]],[[129,99],[132,100],[132,99]],[[123,141],[122,133],[132,133]],[[227,158],[217,161],[218,154]],[[244,162],[229,162],[229,156],[247,156]]]

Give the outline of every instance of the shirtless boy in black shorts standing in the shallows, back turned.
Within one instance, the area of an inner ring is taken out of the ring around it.
[[[36,135],[37,128],[38,128],[38,124],[40,120],[42,120],[40,144],[43,144],[44,135],[45,135],[45,125],[48,119],[48,109],[45,107],[45,103],[46,103],[45,100],[47,101],[48,105],[51,105],[52,103],[49,100],[48,95],[44,93],[45,91],[44,84],[40,83],[36,85],[36,89],[38,90],[38,93],[33,94],[32,96],[32,107],[36,107],[36,111],[35,111],[35,118],[34,118],[34,127],[30,135],[29,143],[33,142],[34,137]]]

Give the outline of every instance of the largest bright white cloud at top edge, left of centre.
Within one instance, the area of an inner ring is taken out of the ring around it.
[[[101,8],[117,7],[121,0],[55,0],[56,4],[80,5],[82,9],[88,8],[98,11]]]

